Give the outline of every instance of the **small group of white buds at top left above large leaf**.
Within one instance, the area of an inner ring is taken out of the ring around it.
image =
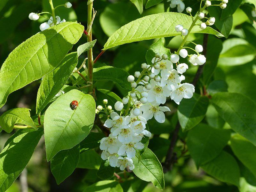
[[[72,7],[72,4],[70,2],[67,2],[67,3],[65,3],[63,5],[59,5],[59,6],[65,6],[66,8],[70,8],[70,7]],[[57,7],[59,7],[59,6],[57,6]],[[49,12],[42,12],[42,13],[32,12],[32,13],[29,13],[28,18],[30,20],[38,20],[40,15],[43,14],[43,13],[51,14]],[[65,19],[61,20],[59,16],[56,16],[55,18],[56,18],[56,22],[54,22],[53,17],[51,16],[50,19],[47,22],[42,23],[39,27],[40,30],[44,31],[45,29],[48,29],[49,27],[52,27],[53,25],[57,25],[59,23],[66,22]]]

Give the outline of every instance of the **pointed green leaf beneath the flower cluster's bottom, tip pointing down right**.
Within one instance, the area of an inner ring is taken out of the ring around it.
[[[144,181],[151,181],[156,188],[164,190],[163,168],[156,155],[147,148],[141,154],[140,162],[138,160],[138,155],[136,154],[133,158],[134,174]]]

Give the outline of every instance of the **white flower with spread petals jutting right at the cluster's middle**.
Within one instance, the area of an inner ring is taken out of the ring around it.
[[[154,116],[159,123],[164,123],[165,121],[164,112],[171,111],[168,107],[161,107],[157,103],[145,104],[141,106],[141,110],[143,111],[142,116],[145,117],[146,120],[152,119]]]

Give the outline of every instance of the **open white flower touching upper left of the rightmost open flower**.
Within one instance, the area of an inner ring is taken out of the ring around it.
[[[180,78],[180,76],[178,75],[178,71],[176,71],[175,69],[171,69],[169,71],[164,70],[161,79],[161,86],[164,87],[165,85],[167,85],[167,88],[170,91],[173,91],[178,86],[178,83],[180,83],[182,80],[184,80],[183,76]]]

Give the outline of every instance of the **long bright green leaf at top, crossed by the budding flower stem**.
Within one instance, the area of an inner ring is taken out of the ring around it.
[[[176,12],[157,13],[134,20],[113,33],[103,50],[135,41],[180,35],[175,31],[175,26],[180,24],[181,20],[184,28],[189,28],[192,24],[190,16]],[[199,26],[195,26],[191,33],[201,30]]]

